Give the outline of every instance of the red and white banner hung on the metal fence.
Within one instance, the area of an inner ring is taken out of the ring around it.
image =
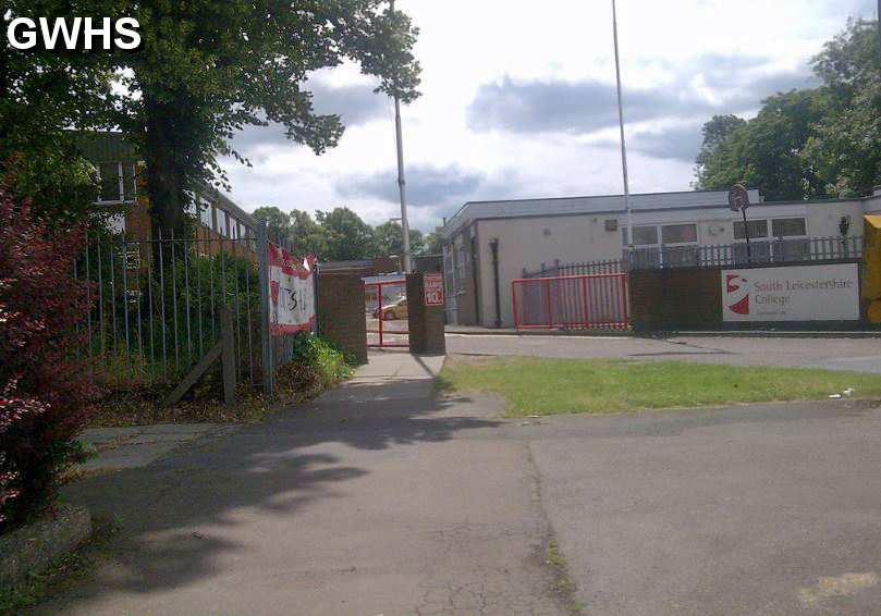
[[[269,331],[273,336],[315,324],[315,258],[303,260],[269,244]]]

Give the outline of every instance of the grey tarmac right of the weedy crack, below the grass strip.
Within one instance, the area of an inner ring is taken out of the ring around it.
[[[757,405],[525,430],[585,613],[881,613],[881,409]]]

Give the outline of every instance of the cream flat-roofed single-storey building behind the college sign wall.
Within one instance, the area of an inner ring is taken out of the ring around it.
[[[632,254],[623,195],[469,201],[440,231],[448,322],[514,325],[512,281],[542,272],[859,257],[862,217],[881,212],[881,189],[811,201],[766,201],[759,190],[748,193],[746,225],[729,208],[726,190],[631,195]]]

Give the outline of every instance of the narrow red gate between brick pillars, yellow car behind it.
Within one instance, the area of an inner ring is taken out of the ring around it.
[[[364,283],[367,346],[409,346],[406,279]]]

